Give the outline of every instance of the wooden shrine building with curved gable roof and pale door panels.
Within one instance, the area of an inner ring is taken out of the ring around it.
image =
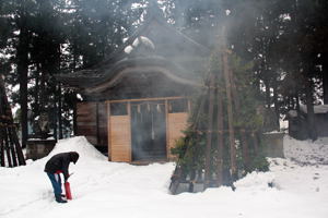
[[[186,128],[189,97],[200,87],[209,50],[166,23],[161,12],[108,59],[57,78],[82,94],[75,135],[108,152],[112,161],[157,161]]]

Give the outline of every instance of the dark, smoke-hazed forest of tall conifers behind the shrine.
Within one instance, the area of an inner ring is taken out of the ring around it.
[[[44,111],[56,138],[70,134],[80,99],[55,75],[106,59],[142,25],[151,4],[209,49],[226,26],[227,47],[253,62],[253,84],[278,114],[277,124],[303,104],[316,138],[314,106],[328,104],[326,0],[1,0],[0,74],[19,108],[23,147],[28,122]]]

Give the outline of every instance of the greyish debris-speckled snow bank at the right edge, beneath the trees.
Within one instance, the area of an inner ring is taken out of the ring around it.
[[[297,141],[288,135],[283,138],[284,156],[303,165],[328,165],[328,137],[315,142]]]

